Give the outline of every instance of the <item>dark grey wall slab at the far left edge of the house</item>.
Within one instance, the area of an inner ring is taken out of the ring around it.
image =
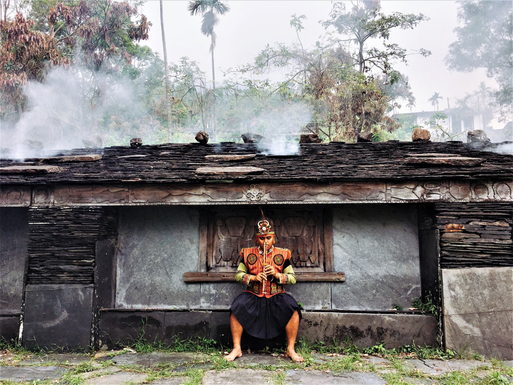
[[[0,208],[0,315],[21,312],[27,262],[28,209]]]

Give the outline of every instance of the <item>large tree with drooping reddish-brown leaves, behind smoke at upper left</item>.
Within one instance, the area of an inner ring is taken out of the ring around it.
[[[34,0],[34,4],[50,2]],[[117,113],[126,117],[123,118],[126,123],[135,113],[128,108],[114,110],[106,97],[107,93],[112,93],[114,83],[120,92],[141,95],[137,103],[151,104],[143,99],[151,99],[150,94],[160,86],[164,74],[158,74],[153,68],[147,71],[150,64],[156,63],[156,58],[151,50],[136,44],[148,37],[150,23],[144,15],[136,20],[139,14],[128,2],[81,0],[74,4],[57,3],[51,8],[46,24],[42,26],[44,31],[35,30],[35,22],[26,20],[22,14],[12,21],[0,23],[0,103],[4,122],[9,117],[14,124],[22,112],[29,107],[32,109],[33,103],[31,106],[26,103],[24,84],[34,82],[28,90],[38,87],[37,82],[51,88],[47,78],[52,74],[52,84],[56,87],[58,76],[52,67],[67,69],[59,76],[68,80],[70,89],[63,89],[61,93],[63,98],[68,98],[68,104],[71,98],[74,101],[67,117],[58,113],[59,106],[53,111],[55,113],[48,111],[53,113],[55,123],[52,126],[60,122],[87,135],[96,134],[98,129],[109,125],[111,116]],[[155,79],[145,79],[150,73],[161,76],[157,83]],[[143,88],[148,92],[141,91]],[[58,98],[57,93],[61,90],[55,91],[52,100]],[[100,108],[102,106],[105,108]],[[106,117],[105,113],[109,115]],[[135,118],[133,120],[135,122]],[[131,123],[125,125],[132,126]],[[154,122],[151,125],[154,126]]]

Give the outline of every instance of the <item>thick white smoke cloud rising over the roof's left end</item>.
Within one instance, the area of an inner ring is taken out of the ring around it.
[[[72,148],[128,145],[137,136],[145,144],[157,142],[160,125],[145,111],[141,87],[120,73],[92,76],[78,65],[53,68],[45,82],[24,86],[29,108],[13,126],[4,124],[1,156],[25,159],[43,151],[49,156]]]

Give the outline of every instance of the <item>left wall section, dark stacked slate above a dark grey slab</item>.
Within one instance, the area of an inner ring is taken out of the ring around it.
[[[31,207],[23,345],[88,350],[96,242],[115,238],[117,209]]]

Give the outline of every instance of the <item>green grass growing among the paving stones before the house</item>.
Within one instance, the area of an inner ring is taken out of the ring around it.
[[[6,347],[6,345],[4,345]],[[418,359],[443,359],[448,360],[457,358],[458,354],[452,351],[444,351],[440,348],[421,347],[416,344],[405,345],[400,348],[388,349],[385,344],[377,344],[366,349],[359,349],[350,340],[342,342],[332,341],[327,344],[319,341],[308,341],[304,338],[297,343],[297,352],[305,358],[303,363],[295,363],[290,360],[279,360],[276,364],[258,364],[251,365],[252,369],[260,369],[272,373],[271,380],[273,383],[283,385],[286,380],[286,373],[289,369],[294,370],[315,370],[326,373],[342,373],[347,371],[371,372],[376,373],[389,385],[403,385],[411,383],[421,383],[422,381],[430,382],[437,385],[506,385],[510,384],[510,377],[513,377],[513,368],[506,367],[500,360],[491,360],[491,367],[481,365],[475,369],[466,372],[452,372],[444,375],[429,375],[417,369],[411,369],[404,364],[405,358]],[[19,361],[32,358],[34,355],[40,355],[41,352],[30,352],[19,346],[8,345],[8,358],[3,364],[15,365]],[[151,382],[160,378],[184,377],[186,384],[200,385],[206,370],[222,371],[226,369],[235,369],[245,367],[238,360],[228,362],[224,359],[224,349],[219,349],[220,345],[213,340],[208,339],[184,339],[176,336],[171,345],[165,346],[160,342],[149,342],[144,338],[134,341],[130,347],[126,347],[123,351],[109,352],[107,355],[115,356],[120,353],[127,352],[192,352],[202,353],[201,356],[187,362],[190,367],[186,372],[176,372],[178,363],[165,363],[155,365],[150,368],[142,368],[137,365],[119,365],[126,372],[145,374],[145,380]],[[222,348],[222,347],[221,347]],[[267,349],[266,353],[283,354],[283,347],[277,349]],[[319,355],[329,355],[324,360],[319,360]],[[106,354],[103,353],[105,356]],[[376,355],[386,358],[388,362],[383,364],[374,364],[365,358],[369,355]],[[84,383],[83,376],[85,373],[108,368],[113,365],[111,360],[101,362],[94,361],[91,355],[91,361],[84,361],[77,365],[70,365],[69,362],[63,362],[59,365],[67,370],[58,382],[62,385],[82,385]],[[484,357],[474,355],[472,358],[484,361]],[[201,367],[198,365],[201,364]],[[41,365],[40,365],[41,366]],[[508,377],[509,376],[509,377]],[[18,385],[50,385],[55,381],[35,381],[17,383]],[[14,382],[1,381],[0,385],[13,385]]]

